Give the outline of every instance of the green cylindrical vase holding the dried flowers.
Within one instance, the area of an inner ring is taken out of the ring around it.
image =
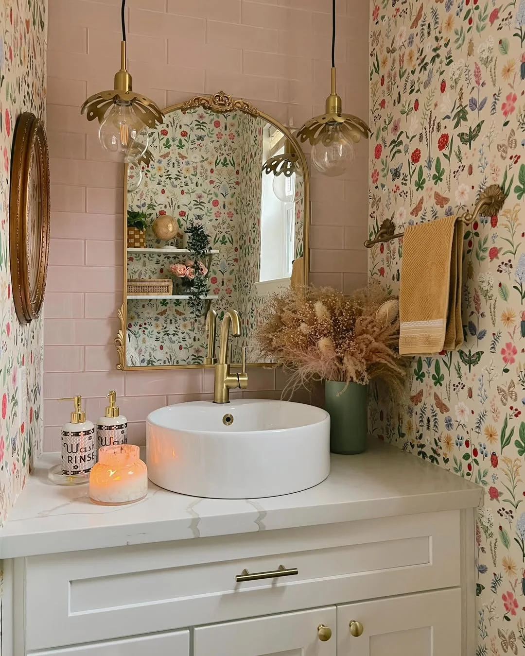
[[[330,451],[354,455],[366,451],[368,385],[327,380],[324,409],[330,415]],[[343,390],[345,390],[343,392]]]

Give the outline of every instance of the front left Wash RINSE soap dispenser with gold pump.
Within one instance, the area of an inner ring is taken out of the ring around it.
[[[73,401],[74,410],[71,421],[62,426],[62,460],[49,470],[49,480],[56,485],[89,483],[96,455],[95,424],[86,419],[80,395],[58,400]]]

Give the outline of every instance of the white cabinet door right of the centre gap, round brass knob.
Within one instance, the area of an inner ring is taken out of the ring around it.
[[[354,632],[352,636],[350,622]],[[357,629],[357,630],[356,630]],[[339,656],[461,656],[461,590],[337,607]]]

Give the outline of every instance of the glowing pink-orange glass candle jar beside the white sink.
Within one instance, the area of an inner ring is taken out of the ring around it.
[[[108,506],[133,503],[148,493],[148,468],[135,444],[98,449],[98,462],[89,475],[91,501]]]

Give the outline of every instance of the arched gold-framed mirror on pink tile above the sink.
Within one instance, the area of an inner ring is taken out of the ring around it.
[[[255,338],[266,299],[308,275],[305,156],[287,127],[222,91],[164,115],[125,170],[117,369],[209,366],[207,313],[220,323],[231,308],[232,362],[245,346],[248,365],[267,364]]]

